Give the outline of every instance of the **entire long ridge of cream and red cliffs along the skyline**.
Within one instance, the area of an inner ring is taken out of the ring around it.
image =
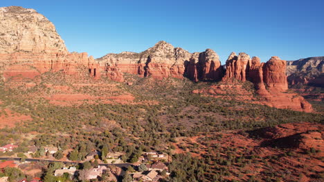
[[[226,61],[226,70],[223,70],[213,50],[190,53],[159,41],[140,53],[107,54],[94,60],[85,52],[68,52],[53,23],[35,10],[16,6],[0,8],[0,20],[0,75],[3,79],[19,75],[32,79],[44,72],[63,71],[76,78],[80,72],[87,72],[96,79],[105,74],[120,82],[124,81],[124,72],[155,79],[188,77],[192,81],[249,80],[264,98],[265,104],[307,112],[312,110],[303,97],[284,93],[288,88],[286,61],[278,57],[260,63],[258,57],[251,59],[246,53],[237,55],[233,52]],[[323,73],[323,61],[313,62],[303,64],[303,60],[300,60],[296,69],[309,70],[309,65],[312,65],[312,68],[315,66]],[[293,65],[295,63],[291,63]]]

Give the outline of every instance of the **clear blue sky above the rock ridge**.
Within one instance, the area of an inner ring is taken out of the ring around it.
[[[324,56],[323,0],[1,0],[0,6],[37,10],[70,52],[95,58],[141,52],[161,40],[189,52],[211,48],[222,63],[233,51],[262,61]]]

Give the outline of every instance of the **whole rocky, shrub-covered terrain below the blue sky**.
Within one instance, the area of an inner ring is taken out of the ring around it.
[[[323,180],[324,107],[303,97],[323,86],[323,57],[232,52],[221,65],[214,50],[159,41],[93,59],[33,9],[0,19],[0,146],[14,147],[0,156],[19,158],[0,176],[86,181],[105,166],[92,181]],[[55,176],[67,167],[78,173]]]

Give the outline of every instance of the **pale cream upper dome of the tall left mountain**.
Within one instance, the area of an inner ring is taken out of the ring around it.
[[[67,52],[55,26],[33,9],[0,8],[0,53]]]

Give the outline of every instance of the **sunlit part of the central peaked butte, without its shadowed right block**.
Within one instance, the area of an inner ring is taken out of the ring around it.
[[[181,79],[185,71],[183,63],[189,58],[190,53],[186,50],[174,48],[170,43],[159,41],[154,47],[141,53],[107,54],[97,60],[103,67],[114,66],[120,72],[138,74],[140,77]]]

